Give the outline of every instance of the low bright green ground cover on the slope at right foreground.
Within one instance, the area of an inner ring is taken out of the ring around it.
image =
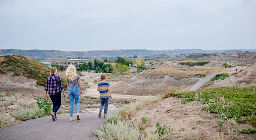
[[[166,94],[165,98],[170,96],[183,98],[181,103],[199,100],[202,101],[201,104],[209,104],[203,110],[218,113],[224,119],[233,118],[238,122],[246,121],[255,126],[256,122],[253,117],[256,113],[255,89],[255,84],[247,87],[215,87],[189,92],[171,92]],[[250,119],[239,120],[242,116],[250,117]]]

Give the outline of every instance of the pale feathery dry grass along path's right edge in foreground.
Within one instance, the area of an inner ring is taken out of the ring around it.
[[[127,106],[119,107],[116,110],[109,111],[105,123],[98,128],[95,133],[101,140],[157,140],[159,135],[155,132],[146,132],[145,123],[147,119],[142,117],[142,124],[136,127],[135,122],[128,122],[136,109],[157,102],[162,99],[161,95],[154,97],[145,97]],[[135,120],[136,121],[136,120]],[[160,126],[159,126],[160,127]],[[162,132],[162,128],[161,128]],[[160,133],[161,133],[160,132]],[[132,135],[131,135],[132,134]]]

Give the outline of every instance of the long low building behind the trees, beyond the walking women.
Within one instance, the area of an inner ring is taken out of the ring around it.
[[[39,62],[49,66],[50,68],[52,66],[50,66],[50,64],[52,62],[55,62],[57,65],[62,65],[62,66],[65,66],[66,68],[68,67],[68,65],[70,64],[73,64],[73,65],[80,65],[84,62],[88,62],[89,60],[88,59],[66,59],[66,58],[50,58],[48,60],[41,60]]]

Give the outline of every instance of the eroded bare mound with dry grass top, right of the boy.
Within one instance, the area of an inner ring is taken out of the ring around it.
[[[134,77],[112,87],[115,94],[155,95],[166,90],[186,91],[200,80],[197,73],[206,74],[226,70],[207,66],[177,69],[171,67],[154,67],[137,73]],[[208,72],[207,72],[208,71]]]

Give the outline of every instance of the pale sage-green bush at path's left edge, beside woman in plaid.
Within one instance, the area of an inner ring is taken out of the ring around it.
[[[34,108],[27,108],[27,109],[19,109],[17,111],[14,111],[12,113],[12,116],[20,121],[24,120],[30,120],[34,118],[40,118],[45,115],[45,112],[43,109],[40,109],[39,107],[34,107]]]

